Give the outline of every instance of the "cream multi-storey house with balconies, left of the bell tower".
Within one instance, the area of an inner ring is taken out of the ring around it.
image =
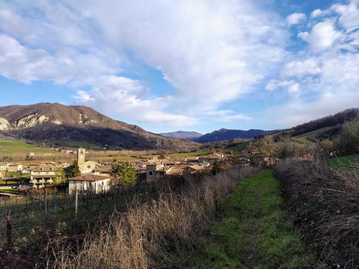
[[[30,183],[34,188],[42,188],[50,185],[56,178],[57,168],[51,164],[40,165],[38,168],[31,170]]]

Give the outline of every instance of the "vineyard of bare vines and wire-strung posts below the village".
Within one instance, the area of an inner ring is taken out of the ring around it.
[[[123,211],[135,196],[149,199],[157,194],[158,185],[141,183],[134,187],[112,187],[95,193],[78,189],[75,192],[29,192],[0,201],[0,240],[12,246],[15,240],[37,231],[77,235],[88,227],[106,222],[114,208]]]

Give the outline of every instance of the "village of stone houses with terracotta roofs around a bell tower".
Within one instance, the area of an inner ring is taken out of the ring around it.
[[[67,153],[67,151],[66,151]],[[109,189],[110,181],[113,180],[112,165],[123,164],[124,161],[99,163],[87,160],[85,148],[78,148],[77,151],[68,150],[69,154],[76,156],[80,175],[71,177],[71,170],[74,168],[74,161],[40,161],[29,164],[22,162],[1,162],[0,179],[5,182],[17,180],[17,176],[27,176],[28,183],[2,186],[1,188],[18,188],[29,191],[32,188],[41,189],[50,185],[58,184],[56,178],[62,170],[65,175],[65,185],[68,193],[74,190],[92,189],[95,193],[104,192]],[[32,153],[29,152],[28,156]],[[161,154],[147,159],[130,160],[128,163],[136,170],[137,180],[144,183],[153,183],[159,177],[182,174],[195,174],[209,171],[215,162],[224,165],[230,161],[232,155],[224,156],[221,152],[214,152],[209,155],[186,156],[173,158],[170,155]],[[61,169],[60,169],[61,167]],[[5,172],[12,176],[5,177]],[[120,179],[121,181],[121,179]],[[1,193],[1,190],[0,190]],[[2,193],[8,195],[6,193]]]

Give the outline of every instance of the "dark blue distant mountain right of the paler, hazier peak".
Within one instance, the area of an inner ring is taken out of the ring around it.
[[[222,141],[222,140],[233,140],[234,138],[252,138],[258,135],[263,135],[265,133],[275,133],[278,130],[264,131],[257,129],[250,129],[248,131],[243,130],[232,130],[232,129],[220,129],[218,131],[213,131],[211,133],[206,133],[205,135],[197,138],[195,141],[199,143]]]

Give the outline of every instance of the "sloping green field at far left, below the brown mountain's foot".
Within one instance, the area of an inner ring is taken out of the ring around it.
[[[0,150],[0,155],[19,154],[19,153],[27,154],[28,152],[33,152],[34,154],[56,153],[50,148],[37,147],[19,141],[0,141],[0,148],[4,149],[4,150]]]

